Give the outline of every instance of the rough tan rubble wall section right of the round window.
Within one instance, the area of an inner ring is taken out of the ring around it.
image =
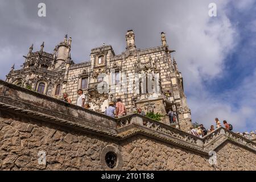
[[[256,170],[255,153],[230,142],[216,150],[214,166],[207,155],[141,136],[124,142],[122,151],[124,170]]]

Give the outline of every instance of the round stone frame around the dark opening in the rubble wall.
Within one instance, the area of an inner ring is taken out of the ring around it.
[[[117,156],[117,163],[114,168],[109,168],[105,162],[105,156],[108,152],[113,152]],[[121,171],[123,167],[123,159],[121,155],[121,148],[116,144],[109,144],[105,146],[100,154],[100,163],[105,171]]]

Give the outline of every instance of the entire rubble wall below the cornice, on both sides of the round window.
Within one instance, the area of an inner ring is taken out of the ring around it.
[[[217,165],[209,156],[172,144],[137,135],[113,140],[33,121],[29,118],[0,118],[1,170],[104,170],[104,147],[120,147],[122,170],[256,170],[255,153],[225,142],[217,152]],[[38,163],[38,152],[46,152],[46,164]]]

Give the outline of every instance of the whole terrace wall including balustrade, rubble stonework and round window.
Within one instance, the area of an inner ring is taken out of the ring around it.
[[[112,118],[0,80],[1,170],[223,171],[256,170],[255,163],[256,143],[222,127],[198,138],[140,114]]]

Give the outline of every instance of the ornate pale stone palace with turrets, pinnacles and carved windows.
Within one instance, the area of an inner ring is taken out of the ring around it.
[[[104,112],[110,101],[121,98],[131,113],[138,106],[145,112],[159,112],[164,115],[163,123],[187,131],[191,112],[183,78],[164,32],[160,38],[162,46],[138,49],[134,32],[129,30],[125,52],[115,55],[112,46],[104,44],[92,49],[89,61],[75,64],[71,60],[72,39],[65,35],[53,53],[43,51],[44,43],[40,51],[33,52],[32,45],[24,56],[23,68],[14,71],[12,67],[6,81],[56,98],[67,92],[72,104],[76,104],[77,90],[82,89],[90,109],[98,112]],[[98,93],[99,89],[102,92]],[[172,124],[167,116],[170,109],[178,116]]]

